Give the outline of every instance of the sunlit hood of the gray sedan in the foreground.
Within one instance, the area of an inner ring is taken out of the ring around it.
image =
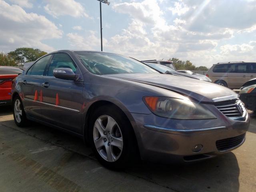
[[[216,98],[237,95],[229,88],[214,83],[169,74],[110,74],[106,76],[161,87],[192,97],[200,102],[213,102],[213,99]]]

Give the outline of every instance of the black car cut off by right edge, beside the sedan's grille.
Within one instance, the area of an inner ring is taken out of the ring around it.
[[[239,94],[246,108],[256,112],[256,78],[243,84]]]

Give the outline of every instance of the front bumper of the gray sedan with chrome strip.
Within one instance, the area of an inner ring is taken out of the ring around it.
[[[245,134],[250,124],[248,113],[244,121],[223,115],[214,120],[172,120],[154,114],[132,116],[142,160],[157,162],[202,160],[233,150],[245,139],[227,150],[218,150],[216,141]],[[198,144],[202,150],[193,152]]]

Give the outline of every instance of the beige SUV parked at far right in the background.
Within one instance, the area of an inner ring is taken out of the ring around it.
[[[237,89],[250,79],[256,78],[256,62],[220,62],[206,73],[212,82]]]

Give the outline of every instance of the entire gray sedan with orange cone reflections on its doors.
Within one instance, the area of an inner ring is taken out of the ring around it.
[[[211,158],[242,145],[250,121],[228,88],[93,51],[41,57],[13,81],[12,104],[18,126],[75,134],[108,168]]]

